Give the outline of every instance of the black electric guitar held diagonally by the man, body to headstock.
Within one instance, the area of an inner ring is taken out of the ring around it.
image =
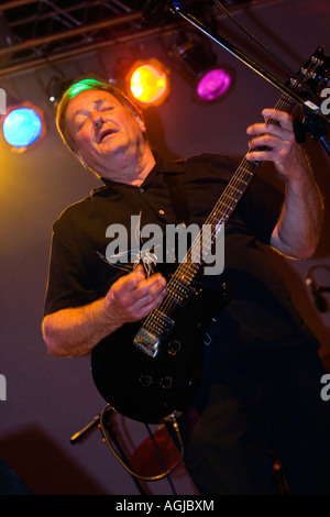
[[[318,48],[298,76],[316,90],[329,67],[330,59]],[[287,86],[304,95],[304,85],[296,78]],[[295,106],[283,95],[275,109],[290,112]],[[210,212],[206,220],[212,229],[210,249],[260,165],[244,157]],[[166,296],[157,308],[143,321],[122,326],[91,354],[92,378],[99,393],[116,411],[138,421],[160,422],[185,409],[198,385],[212,310],[218,311],[231,297],[226,286],[220,295],[196,286],[204,263],[189,261],[194,246],[195,241],[188,261],[182,262],[168,279]]]

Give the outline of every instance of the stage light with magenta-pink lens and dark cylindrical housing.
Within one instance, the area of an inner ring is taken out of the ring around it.
[[[195,99],[200,102],[213,102],[223,98],[233,81],[233,72],[217,64],[211,50],[196,40],[176,43],[169,55],[182,65],[185,75],[193,80]]]

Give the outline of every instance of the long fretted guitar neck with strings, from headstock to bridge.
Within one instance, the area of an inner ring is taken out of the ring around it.
[[[324,56],[322,48],[318,47],[305,66],[300,68],[298,73],[300,80],[292,78],[287,81],[287,85],[293,91],[300,91],[301,95],[301,81],[312,81],[316,86],[319,86],[329,68],[330,59]],[[289,113],[295,106],[296,102],[288,95],[283,95],[276,103],[275,109]],[[267,123],[278,125],[278,122],[273,119],[270,119]],[[268,147],[256,147],[255,151],[267,148]],[[163,334],[166,334],[172,328],[173,321],[170,315],[173,310],[177,305],[185,305],[190,294],[195,293],[193,282],[197,273],[206,262],[206,256],[208,256],[208,252],[211,251],[219,231],[227,223],[262,163],[250,162],[246,156],[242,160],[204,224],[204,227],[207,226],[207,228],[211,230],[207,232],[207,242],[205,240],[204,229],[201,229],[199,234],[194,239],[186,257],[179,263],[176,272],[168,280],[165,298],[161,301],[158,307],[147,316],[143,327],[136,334],[136,345],[142,348],[150,355],[156,353],[155,350],[157,350]],[[202,248],[202,258],[200,257],[200,248]]]

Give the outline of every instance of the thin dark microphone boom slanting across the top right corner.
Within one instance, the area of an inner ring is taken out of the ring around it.
[[[297,130],[300,134],[300,139],[302,139],[302,132],[309,132],[317,142],[320,142],[323,145],[326,152],[330,156],[330,144],[327,142],[326,139],[327,129],[324,127],[324,122],[330,123],[330,120],[328,120],[327,117],[323,116],[319,106],[315,105],[315,102],[312,102],[311,100],[302,99],[298,94],[296,94],[296,91],[290,90],[285,84],[278,80],[270,72],[265,70],[262,66],[253,62],[249,56],[246,56],[242,51],[240,51],[238,47],[228,42],[224,37],[220,36],[219,34],[215,34],[209,29],[207,29],[197,18],[195,18],[191,13],[185,10],[182,2],[177,0],[167,0],[167,4],[172,13],[189,22],[200,32],[210,37],[213,42],[222,46],[234,57],[237,57],[251,69],[253,69],[255,73],[257,73],[265,80],[275,86],[278,90],[282,91],[282,94],[285,94],[287,97],[290,97],[297,103],[301,105],[302,110],[305,112],[305,119],[304,122],[301,122],[300,127],[298,127],[299,124],[295,127],[295,134]],[[302,140],[299,143],[302,143]]]

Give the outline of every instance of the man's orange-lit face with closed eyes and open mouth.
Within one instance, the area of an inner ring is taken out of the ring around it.
[[[87,90],[70,101],[67,129],[79,157],[100,176],[124,180],[120,172],[141,160],[144,124],[107,91]]]

